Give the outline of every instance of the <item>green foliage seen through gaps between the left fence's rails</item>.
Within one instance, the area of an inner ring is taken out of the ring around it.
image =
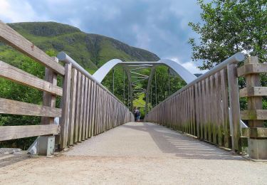
[[[24,70],[32,75],[35,75],[38,78],[44,78],[45,68],[43,65],[36,63],[31,58],[23,56],[21,53],[17,53],[11,48],[8,48],[10,53],[14,54],[14,59],[11,60],[11,63],[17,68]],[[6,52],[6,53],[9,53]],[[50,56],[55,56],[55,51],[46,52]],[[1,58],[7,59],[5,56]],[[21,59],[21,60],[19,60]],[[15,63],[14,63],[15,61]],[[10,64],[11,64],[10,63]],[[42,95],[43,93],[40,90],[34,88],[28,88],[25,85],[20,85],[18,83],[11,82],[4,78],[0,78],[0,97],[4,97],[10,100],[17,100],[21,102],[29,102],[36,105],[42,104]],[[1,126],[16,126],[16,125],[39,125],[41,122],[41,117],[35,116],[25,116],[25,115],[0,115],[0,125]],[[0,147],[21,147],[26,149],[34,141],[36,137],[25,138],[25,139],[14,139],[11,141],[0,142]]]

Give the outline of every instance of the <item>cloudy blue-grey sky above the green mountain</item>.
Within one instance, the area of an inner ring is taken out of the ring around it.
[[[68,23],[175,60],[192,73],[199,70],[187,42],[197,35],[188,22],[200,21],[200,12],[197,0],[0,0],[5,23]]]

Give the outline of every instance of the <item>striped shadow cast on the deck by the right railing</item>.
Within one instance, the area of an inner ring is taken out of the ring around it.
[[[232,154],[225,149],[220,149],[212,144],[194,139],[194,137],[189,137],[186,134],[180,134],[161,125],[140,122],[140,125],[126,124],[120,127],[148,132],[162,152],[174,154],[179,158],[246,160],[244,157]]]

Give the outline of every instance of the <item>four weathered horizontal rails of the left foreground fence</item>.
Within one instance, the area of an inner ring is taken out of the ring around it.
[[[23,38],[23,36],[16,33],[12,28],[0,21],[0,41],[9,44],[17,51],[26,56],[33,58],[41,65],[45,65],[52,74],[65,75],[65,69],[60,65],[56,58],[51,58],[41,51],[33,43]],[[47,70],[48,71],[48,70]],[[47,72],[46,71],[46,72]],[[46,99],[43,105],[34,105],[26,102],[19,102],[15,100],[7,100],[0,98],[0,114],[11,115],[29,115],[48,117],[47,120],[53,120],[54,117],[61,117],[61,108],[56,108],[56,96],[63,95],[63,89],[58,87],[56,78],[51,78],[47,75],[46,80],[37,78],[34,75],[26,73],[19,68],[15,68],[3,61],[0,61],[0,77],[12,80],[15,83],[27,85],[31,88],[42,90],[45,95],[53,97],[49,102]],[[55,97],[55,98],[54,98]],[[33,137],[46,134],[57,134],[59,132],[58,125],[53,122],[42,122],[42,125],[27,125],[27,126],[2,126],[0,127],[0,141],[9,139],[18,139],[23,137]]]

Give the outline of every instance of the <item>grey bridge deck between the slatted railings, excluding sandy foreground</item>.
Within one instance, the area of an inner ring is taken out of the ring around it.
[[[66,155],[241,159],[224,149],[152,123],[129,122],[78,144]]]

